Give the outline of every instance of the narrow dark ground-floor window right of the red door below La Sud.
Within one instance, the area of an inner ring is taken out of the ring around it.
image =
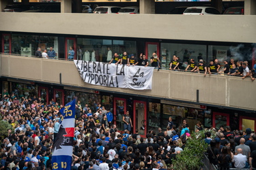
[[[148,130],[158,132],[160,127],[160,103],[149,103]]]

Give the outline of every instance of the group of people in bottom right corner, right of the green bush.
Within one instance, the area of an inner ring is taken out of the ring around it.
[[[230,126],[221,126],[214,139],[210,132],[205,135],[210,163],[220,169],[256,169],[256,134],[250,128],[231,131]]]

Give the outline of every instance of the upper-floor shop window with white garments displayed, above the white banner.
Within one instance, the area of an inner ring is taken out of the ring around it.
[[[115,52],[122,55],[123,52],[136,55],[136,41],[112,40],[112,39],[77,39],[77,54],[79,60],[84,61],[111,61]]]

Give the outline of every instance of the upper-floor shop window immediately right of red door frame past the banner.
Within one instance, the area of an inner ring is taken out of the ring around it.
[[[180,69],[186,69],[191,58],[194,58],[196,62],[199,62],[200,59],[207,61],[205,45],[162,43],[160,52],[162,69],[169,69],[169,63],[171,63],[174,54],[182,61],[179,66]]]

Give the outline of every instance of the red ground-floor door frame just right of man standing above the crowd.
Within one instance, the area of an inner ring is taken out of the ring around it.
[[[144,135],[141,135],[141,137],[146,137],[147,134],[147,102],[145,101],[133,101],[133,120],[132,120],[132,128],[133,131],[136,131],[136,103],[143,103],[144,104],[144,124],[145,124],[145,129],[144,129]],[[140,128],[140,124],[138,124],[138,129]]]

